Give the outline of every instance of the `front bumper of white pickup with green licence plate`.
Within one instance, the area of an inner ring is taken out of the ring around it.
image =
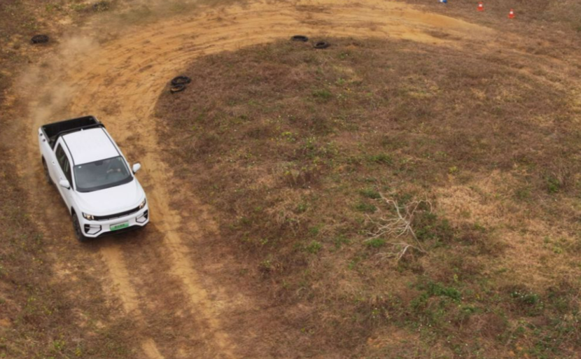
[[[120,218],[113,218],[110,220],[87,220],[81,216],[79,220],[80,229],[83,231],[85,237],[96,238],[101,237],[104,234],[118,234],[126,232],[127,230],[141,228],[148,224],[149,206],[146,204],[143,209]],[[120,224],[127,224],[127,227],[123,227],[119,230],[111,230],[111,226]]]

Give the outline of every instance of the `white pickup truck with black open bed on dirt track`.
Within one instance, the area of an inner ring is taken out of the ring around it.
[[[71,213],[79,241],[109,232],[144,227],[149,210],[144,189],[93,116],[73,118],[38,129],[46,181],[54,183]]]

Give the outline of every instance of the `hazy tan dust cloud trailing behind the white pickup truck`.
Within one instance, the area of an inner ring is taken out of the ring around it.
[[[184,15],[202,4],[211,1],[195,0],[126,0],[111,1],[111,6],[90,20],[71,29],[64,38],[55,39],[58,43],[51,55],[39,64],[29,66],[16,81],[23,92],[34,88],[37,97],[29,102],[29,115],[36,128],[47,122],[78,114],[68,113],[72,98],[82,91],[78,84],[67,81],[67,73],[78,64],[85,62],[99,52],[103,43],[120,38],[126,31],[144,24],[154,24],[172,15]],[[222,3],[225,3],[222,1]],[[95,58],[94,62],[99,62]],[[111,71],[116,71],[112,68]]]

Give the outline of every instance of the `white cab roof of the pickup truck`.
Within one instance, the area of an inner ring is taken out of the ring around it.
[[[103,127],[82,129],[64,134],[62,140],[69,148],[73,165],[85,164],[120,156],[109,134]]]

